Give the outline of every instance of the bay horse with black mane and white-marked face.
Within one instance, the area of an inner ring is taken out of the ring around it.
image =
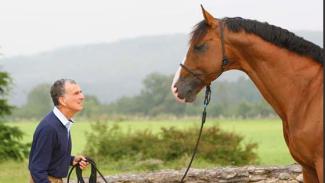
[[[304,182],[323,182],[323,49],[266,22],[202,12],[171,86],[175,97],[193,102],[222,72],[245,72],[281,118]]]

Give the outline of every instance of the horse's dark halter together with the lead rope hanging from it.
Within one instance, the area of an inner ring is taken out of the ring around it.
[[[226,56],[225,53],[225,44],[224,44],[224,35],[223,35],[223,21],[220,21],[220,42],[221,42],[221,53],[222,53],[222,64],[221,64],[221,72],[217,75],[217,78],[224,72],[226,65],[229,64],[228,58]],[[202,120],[201,120],[201,128],[199,131],[199,135],[198,135],[198,139],[196,141],[195,144],[195,148],[193,150],[193,154],[192,154],[192,158],[190,160],[190,163],[188,164],[188,167],[181,179],[181,183],[184,182],[184,179],[187,175],[187,172],[189,171],[189,169],[191,168],[192,162],[194,160],[195,154],[197,152],[198,146],[199,146],[199,142],[201,139],[201,134],[202,134],[202,130],[203,130],[203,126],[205,123],[205,119],[206,119],[206,108],[208,106],[208,104],[210,103],[210,99],[211,99],[211,88],[210,88],[210,83],[205,82],[203,79],[201,79],[201,75],[202,74],[197,74],[195,73],[193,70],[191,70],[190,68],[186,67],[183,64],[180,64],[180,66],[185,69],[187,72],[189,72],[193,77],[195,77],[196,79],[198,79],[199,81],[201,81],[204,86],[206,86],[206,90],[205,90],[205,97],[204,97],[204,102],[203,102],[203,112],[202,112]],[[210,73],[210,74],[214,74],[214,73]],[[205,74],[205,75],[210,75],[210,74]]]

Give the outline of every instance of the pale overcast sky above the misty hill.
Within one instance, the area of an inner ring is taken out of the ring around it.
[[[290,31],[323,31],[323,0],[0,0],[0,53],[34,54],[62,46],[146,35],[189,33],[215,17],[267,21]]]

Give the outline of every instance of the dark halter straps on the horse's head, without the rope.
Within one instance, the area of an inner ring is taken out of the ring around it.
[[[219,75],[217,77],[219,77],[223,71],[225,70],[225,66],[227,64],[229,64],[229,60],[226,56],[226,52],[225,52],[225,43],[224,43],[224,34],[223,34],[223,21],[220,21],[220,42],[221,42],[221,53],[222,53],[222,64],[221,64],[221,72],[219,73]],[[188,68],[187,66],[185,66],[184,64],[179,64],[183,69],[185,69],[187,72],[189,72],[192,76],[194,76],[196,79],[200,80],[205,86],[210,85],[210,83],[206,83],[205,81],[203,81],[203,79],[200,78],[199,74],[196,74],[193,70],[191,70],[190,68]],[[208,75],[208,74],[206,74]]]

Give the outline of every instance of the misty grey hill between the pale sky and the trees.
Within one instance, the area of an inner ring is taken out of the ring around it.
[[[298,35],[322,45],[322,32],[299,31]],[[161,35],[64,47],[29,56],[2,58],[0,65],[10,73],[14,86],[11,103],[22,105],[38,84],[59,78],[75,79],[85,94],[109,103],[121,96],[139,93],[141,82],[152,72],[174,74],[184,58],[189,36]],[[1,69],[0,67],[0,69]],[[227,72],[222,79],[244,75]]]

